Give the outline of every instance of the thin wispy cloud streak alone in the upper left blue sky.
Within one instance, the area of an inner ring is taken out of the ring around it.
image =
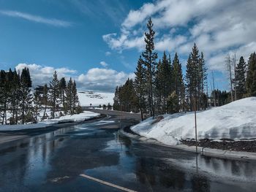
[[[44,23],[50,26],[56,26],[56,27],[69,27],[72,26],[72,23],[65,21],[65,20],[58,20],[55,18],[43,18],[38,15],[31,15],[26,12],[18,12],[18,11],[12,11],[12,10],[0,10],[1,15],[7,15],[12,18],[22,18],[25,20],[30,20],[35,23]]]

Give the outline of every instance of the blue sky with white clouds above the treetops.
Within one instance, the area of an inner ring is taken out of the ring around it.
[[[80,89],[113,91],[133,76],[151,17],[160,57],[178,52],[185,66],[196,42],[225,89],[225,55],[248,58],[256,50],[255,6],[253,0],[0,0],[0,68],[28,66],[34,85],[57,70]]]

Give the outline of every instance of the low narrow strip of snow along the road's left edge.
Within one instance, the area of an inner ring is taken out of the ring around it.
[[[83,122],[84,120],[88,120],[90,118],[94,118],[97,116],[99,116],[99,113],[84,111],[80,114],[65,115],[56,119],[42,120],[39,123],[34,123],[34,124],[0,125],[0,131],[16,131],[16,130],[30,129],[30,128],[46,128],[59,123],[72,123],[72,122],[79,123],[79,122]]]

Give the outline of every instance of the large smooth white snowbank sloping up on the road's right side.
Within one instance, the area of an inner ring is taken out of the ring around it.
[[[152,118],[148,118],[131,129],[167,145],[178,145],[181,139],[195,139],[194,112],[164,115],[158,123],[153,122]],[[255,139],[256,97],[197,112],[197,138]]]

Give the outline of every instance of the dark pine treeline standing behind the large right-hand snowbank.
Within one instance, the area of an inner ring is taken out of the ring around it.
[[[145,50],[138,59],[135,80],[128,79],[116,87],[114,110],[140,112],[150,116],[165,113],[206,110],[231,101],[230,92],[213,89],[208,96],[208,74],[203,52],[194,44],[187,60],[186,72],[182,72],[178,53],[173,60],[166,52],[157,60],[154,50],[153,23],[147,23]],[[184,74],[184,75],[183,75]],[[248,66],[241,57],[236,66],[237,99],[256,96],[256,56],[249,58]],[[213,82],[214,83],[214,82]]]

